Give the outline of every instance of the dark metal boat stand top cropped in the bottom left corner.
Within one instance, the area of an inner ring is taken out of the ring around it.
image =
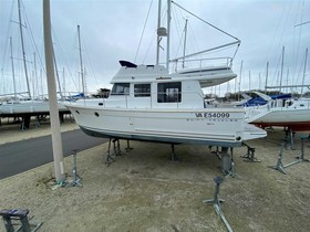
[[[42,225],[42,223],[39,224],[29,223],[28,213],[29,210],[17,210],[17,209],[1,210],[0,215],[2,215],[7,232],[14,232],[16,231],[14,225],[19,226],[17,231],[23,231],[23,232],[37,231]],[[20,221],[20,223],[13,224],[12,221]]]

